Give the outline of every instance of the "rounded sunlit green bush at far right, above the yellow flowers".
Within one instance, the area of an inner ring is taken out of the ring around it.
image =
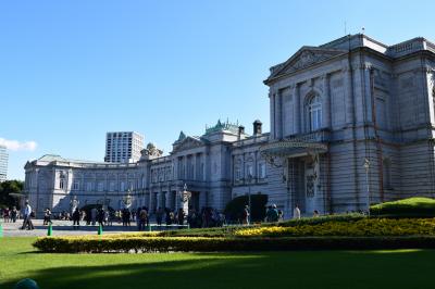
[[[372,205],[373,216],[390,217],[435,217],[435,200],[430,198],[409,198],[394,202]]]

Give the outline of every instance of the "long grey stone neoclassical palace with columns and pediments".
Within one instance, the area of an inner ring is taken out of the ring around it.
[[[271,67],[271,131],[219,122],[199,137],[181,133],[172,152],[149,144],[137,163],[45,155],[25,166],[37,211],[82,204],[177,209],[184,184],[195,209],[247,193],[291,216],[366,210],[369,203],[435,193],[435,45],[386,46],[352,35],[302,47]]]

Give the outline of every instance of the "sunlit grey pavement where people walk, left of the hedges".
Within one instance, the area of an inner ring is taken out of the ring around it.
[[[42,225],[42,219],[33,219],[35,226],[34,230],[22,230],[20,229],[23,225],[23,221],[18,219],[16,223],[0,223],[3,227],[4,237],[41,237],[47,236],[48,226]],[[72,226],[72,221],[53,221],[52,224],[52,236],[78,236],[78,235],[97,235],[98,226],[82,225],[79,228]],[[84,222],[83,222],[84,224]],[[165,230],[174,229],[176,226],[157,226],[151,224],[152,230]],[[134,233],[138,231],[136,222],[132,222],[132,226],[124,227],[122,224],[113,223],[112,226],[104,226],[104,234],[117,234],[117,233]]]

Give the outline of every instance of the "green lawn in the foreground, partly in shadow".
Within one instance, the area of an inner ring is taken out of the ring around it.
[[[0,288],[432,288],[435,250],[45,254],[0,239]]]

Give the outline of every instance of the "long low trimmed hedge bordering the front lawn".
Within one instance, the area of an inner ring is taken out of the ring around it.
[[[307,237],[307,238],[38,238],[34,247],[42,252],[228,252],[283,250],[374,250],[435,249],[435,237]]]

